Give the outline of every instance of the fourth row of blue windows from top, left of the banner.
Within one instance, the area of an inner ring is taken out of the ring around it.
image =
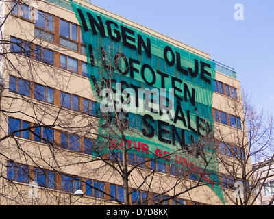
[[[57,144],[64,149],[88,154],[93,152],[93,144],[90,138],[81,138],[71,133],[49,127],[41,127],[17,118],[8,118],[8,133],[45,144]]]

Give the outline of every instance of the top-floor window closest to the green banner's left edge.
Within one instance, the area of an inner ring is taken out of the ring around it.
[[[77,25],[60,19],[59,44],[68,49],[78,51]]]

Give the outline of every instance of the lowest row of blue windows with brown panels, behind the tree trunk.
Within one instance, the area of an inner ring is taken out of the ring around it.
[[[124,202],[123,186],[112,183],[104,183],[93,179],[84,179],[72,175],[60,174],[51,170],[35,168],[25,164],[17,164],[8,162],[7,179],[18,181],[21,183],[29,183],[35,181],[40,187],[62,190],[64,192],[75,192],[75,190],[83,190],[84,195],[103,198],[112,201]],[[109,191],[109,192],[106,192]],[[186,201],[180,198],[172,198],[171,201],[166,200],[169,196],[161,196],[159,194],[148,194],[141,190],[131,189],[131,200],[133,205],[186,205]],[[106,194],[105,194],[106,193]],[[108,195],[110,194],[110,196]],[[149,201],[153,198],[153,201]]]

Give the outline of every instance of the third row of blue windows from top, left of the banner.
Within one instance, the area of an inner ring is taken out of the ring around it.
[[[84,112],[85,114],[89,114],[91,116],[98,116],[99,107],[97,107],[97,104],[94,101],[66,92],[60,92],[59,101],[55,101],[56,96],[58,96],[55,93],[59,92],[58,90],[47,86],[42,86],[38,83],[34,83],[34,85],[31,86],[30,81],[21,79],[20,77],[10,75],[9,90],[10,92],[33,97],[34,99],[45,101],[47,103],[54,104],[58,102],[62,107],[76,110],[78,112]]]

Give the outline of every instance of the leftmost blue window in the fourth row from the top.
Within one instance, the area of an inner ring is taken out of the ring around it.
[[[29,130],[20,131],[29,128],[29,123],[16,118],[8,118],[8,133],[15,131],[14,136],[29,138]],[[18,131],[18,132],[17,132]]]

